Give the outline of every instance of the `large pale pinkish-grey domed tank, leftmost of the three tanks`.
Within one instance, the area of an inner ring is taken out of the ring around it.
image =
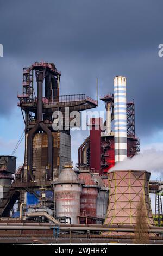
[[[56,217],[71,218],[71,223],[77,224],[80,214],[82,184],[72,166],[64,166],[54,186]]]

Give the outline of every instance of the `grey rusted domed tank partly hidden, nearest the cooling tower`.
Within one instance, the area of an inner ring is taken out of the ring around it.
[[[98,186],[98,195],[96,202],[96,217],[105,220],[106,212],[108,209],[109,188],[107,188],[99,176],[99,173],[94,173],[92,176],[93,181]],[[97,224],[102,224],[102,220],[97,221]]]

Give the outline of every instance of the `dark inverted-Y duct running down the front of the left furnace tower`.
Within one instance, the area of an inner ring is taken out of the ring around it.
[[[28,133],[28,149],[27,149],[27,182],[31,180],[34,181],[34,176],[32,174],[32,154],[33,154],[33,136],[39,127],[48,136],[48,173],[47,180],[53,178],[53,136],[52,132],[42,121],[42,83],[45,77],[45,69],[35,70],[36,81],[37,81],[37,124]]]

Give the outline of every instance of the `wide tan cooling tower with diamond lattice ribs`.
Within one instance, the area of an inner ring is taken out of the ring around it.
[[[149,198],[151,173],[141,170],[117,170],[108,172],[109,206],[106,225],[135,225],[137,205],[143,198],[148,225],[154,225]]]

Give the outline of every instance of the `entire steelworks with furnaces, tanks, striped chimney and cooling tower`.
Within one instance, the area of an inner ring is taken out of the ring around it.
[[[60,95],[61,72],[54,63],[23,68],[18,107],[24,122],[24,163],[0,156],[0,244],[133,243],[139,203],[149,243],[163,243],[163,181],[147,170],[114,170],[140,152],[135,103],[127,102],[127,78],[113,78],[113,93],[100,97],[106,119],[88,120],[89,136],[71,157],[69,112],[98,107],[85,94]],[[152,213],[149,193],[155,194]]]

